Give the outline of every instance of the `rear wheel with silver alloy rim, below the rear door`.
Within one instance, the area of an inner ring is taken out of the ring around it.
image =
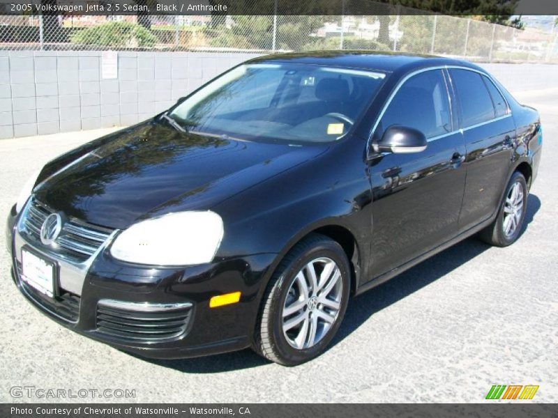
[[[527,212],[527,181],[519,171],[511,176],[498,215],[490,226],[479,233],[479,238],[496,247],[507,247],[515,242],[522,230]]]

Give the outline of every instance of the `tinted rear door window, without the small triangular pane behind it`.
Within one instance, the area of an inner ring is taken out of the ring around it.
[[[451,70],[451,79],[458,93],[463,127],[490,121],[495,117],[492,99],[478,72]]]

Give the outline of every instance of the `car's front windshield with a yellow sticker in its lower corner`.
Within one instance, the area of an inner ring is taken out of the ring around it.
[[[335,141],[385,74],[290,63],[234,68],[169,114],[190,132],[254,140]]]

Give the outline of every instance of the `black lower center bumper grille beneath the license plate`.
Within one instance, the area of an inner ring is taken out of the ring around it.
[[[59,296],[48,297],[34,288],[29,286],[25,281],[21,279],[22,277],[22,265],[19,261],[16,261],[17,274],[20,278],[20,286],[24,289],[24,293],[27,294],[33,302],[35,302],[40,308],[49,311],[50,314],[58,316],[63,320],[67,320],[71,323],[77,323],[77,318],[80,317],[80,301],[81,298],[73,293],[64,292]]]

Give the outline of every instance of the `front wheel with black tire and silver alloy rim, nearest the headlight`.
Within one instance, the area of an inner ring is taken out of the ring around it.
[[[322,354],[345,315],[350,277],[338,242],[313,233],[296,244],[264,293],[254,350],[285,366]]]

